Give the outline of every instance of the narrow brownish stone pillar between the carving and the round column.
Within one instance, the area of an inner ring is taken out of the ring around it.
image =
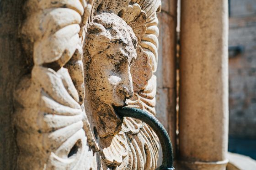
[[[156,93],[156,117],[168,131],[176,155],[176,18],[177,0],[161,0]],[[161,161],[160,153],[160,161]]]

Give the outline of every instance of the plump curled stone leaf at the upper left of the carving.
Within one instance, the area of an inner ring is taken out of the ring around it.
[[[43,10],[30,11],[32,14],[27,18],[21,31],[24,39],[28,39],[27,41],[32,43],[30,46],[34,46],[32,49],[34,63],[40,65],[57,62],[61,67],[74,54],[79,41],[78,33],[81,16],[73,9],[75,7],[83,9],[83,6],[79,0],[69,0],[69,3],[72,1],[77,4],[73,5],[72,10],[69,8],[53,8],[58,2],[54,3],[51,0],[31,1],[27,2],[29,10],[31,10],[29,5],[32,5],[35,9],[42,8],[37,5],[45,5]],[[63,4],[60,3],[59,5]],[[76,10],[80,11],[79,9]],[[83,13],[84,11],[80,12]],[[25,49],[28,49],[28,44],[24,46]]]

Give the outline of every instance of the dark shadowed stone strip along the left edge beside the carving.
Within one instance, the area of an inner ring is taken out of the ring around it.
[[[0,0],[0,170],[16,167],[13,89],[30,68],[21,50],[19,26],[24,0]]]

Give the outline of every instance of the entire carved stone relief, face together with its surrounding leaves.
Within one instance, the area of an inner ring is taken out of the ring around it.
[[[31,71],[16,86],[19,170],[154,170],[158,138],[115,107],[155,115],[160,0],[27,0]]]

